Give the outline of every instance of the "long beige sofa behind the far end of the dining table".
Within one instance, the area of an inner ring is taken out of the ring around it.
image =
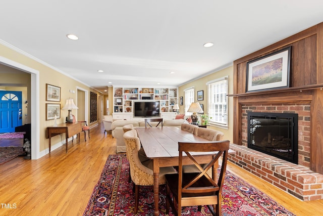
[[[155,126],[158,122],[151,122],[152,126]],[[127,124],[132,124],[134,128],[136,127],[145,127],[145,121],[139,120],[115,120],[111,124],[112,136],[116,138],[117,144],[117,153],[126,152],[126,144],[123,139],[124,131],[123,126]],[[182,124],[188,124],[188,121],[184,119],[172,119],[172,120],[164,120],[163,126],[175,126],[181,128]],[[161,125],[159,125],[161,126]]]

